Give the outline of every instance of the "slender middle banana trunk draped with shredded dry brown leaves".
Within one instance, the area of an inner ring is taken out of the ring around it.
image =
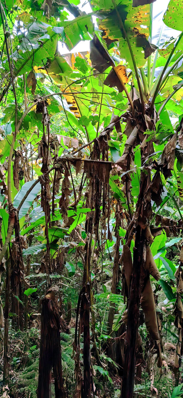
[[[102,160],[100,160],[100,154],[102,154]],[[94,352],[97,362],[100,364],[100,357],[98,349],[96,347],[95,341],[95,320],[94,313],[92,310],[93,295],[92,295],[92,284],[91,284],[91,256],[93,258],[94,251],[91,249],[92,232],[95,236],[95,244],[99,243],[98,228],[100,222],[100,205],[103,193],[102,202],[102,228],[106,230],[105,220],[108,219],[108,206],[106,208],[106,201],[109,200],[108,195],[108,182],[109,173],[112,168],[111,162],[108,162],[108,133],[102,133],[96,140],[94,140],[94,147],[91,154],[91,160],[84,161],[84,170],[87,177],[90,178],[89,183],[89,193],[86,193],[87,203],[86,206],[94,212],[91,211],[87,214],[85,222],[85,231],[87,234],[86,244],[85,244],[85,261],[83,270],[83,288],[79,295],[78,305],[77,305],[77,322],[75,329],[75,372],[77,378],[77,389],[75,391],[75,396],[81,398],[90,398],[91,391],[94,394],[94,385],[92,381],[92,371],[91,371],[91,353],[90,353],[90,323],[89,316],[90,310],[92,315],[92,340],[94,343]],[[103,189],[102,189],[103,187]],[[107,211],[106,211],[107,210]],[[92,260],[93,261],[93,260]],[[80,308],[80,319],[79,319],[79,330],[77,338],[77,324]],[[79,341],[80,335],[83,331],[83,377],[81,375],[81,367],[79,363]]]

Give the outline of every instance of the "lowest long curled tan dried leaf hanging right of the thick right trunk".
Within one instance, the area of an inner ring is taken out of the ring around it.
[[[154,340],[159,340],[158,322],[156,317],[156,304],[150,279],[148,277],[141,297],[141,307],[146,319],[146,327]]]

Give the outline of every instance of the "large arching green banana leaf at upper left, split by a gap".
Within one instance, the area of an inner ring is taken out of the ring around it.
[[[48,62],[50,64],[56,53],[58,35],[61,35],[67,47],[72,49],[81,41],[81,38],[90,39],[89,33],[92,33],[94,29],[91,14],[65,21],[62,27],[59,26],[60,22],[56,25],[52,27],[47,23],[34,21],[27,26],[28,33],[23,35],[21,45],[13,54],[15,76],[29,72],[34,67],[38,71]],[[9,69],[8,60],[4,66],[7,70]],[[63,72],[65,73],[65,70]]]

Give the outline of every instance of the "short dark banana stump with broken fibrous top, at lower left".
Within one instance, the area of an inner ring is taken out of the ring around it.
[[[62,321],[55,300],[56,287],[42,300],[38,398],[50,398],[50,373],[53,369],[55,397],[65,398],[62,378],[60,329]]]

